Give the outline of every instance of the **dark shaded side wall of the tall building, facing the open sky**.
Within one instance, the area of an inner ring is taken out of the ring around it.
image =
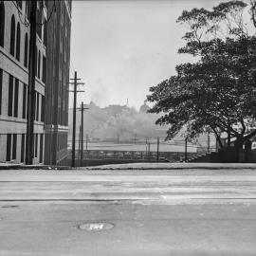
[[[53,1],[47,1],[52,9]],[[56,1],[47,23],[46,164],[66,165],[71,1]],[[54,35],[54,36],[52,36]]]

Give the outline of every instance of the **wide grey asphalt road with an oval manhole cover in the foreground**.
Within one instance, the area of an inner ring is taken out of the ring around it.
[[[255,238],[256,170],[0,172],[0,255],[255,256]]]

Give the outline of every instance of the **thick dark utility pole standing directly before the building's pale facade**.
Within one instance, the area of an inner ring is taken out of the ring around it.
[[[36,13],[37,0],[31,1],[30,10],[30,40],[28,61],[27,87],[27,136],[26,136],[26,164],[33,164],[34,156],[34,116],[35,116],[35,76],[36,76]]]

